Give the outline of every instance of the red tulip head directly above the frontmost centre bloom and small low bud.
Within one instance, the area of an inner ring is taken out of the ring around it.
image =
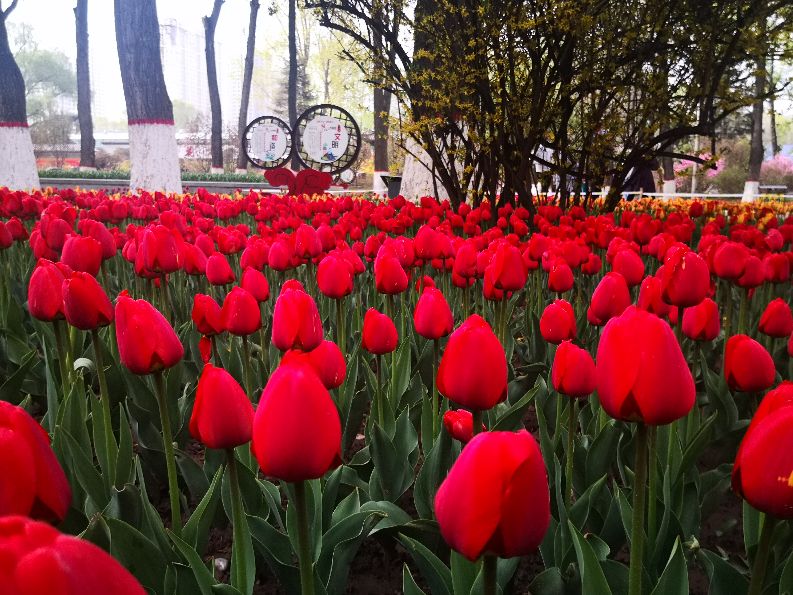
[[[473,314],[449,337],[438,367],[440,393],[471,410],[507,397],[507,357],[490,325]]]

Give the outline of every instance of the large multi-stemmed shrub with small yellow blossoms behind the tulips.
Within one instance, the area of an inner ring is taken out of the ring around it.
[[[501,189],[502,200],[532,209],[541,170],[557,177],[563,204],[608,178],[614,205],[632,168],[687,156],[680,145],[692,136],[715,138],[758,97],[751,72],[770,34],[761,24],[791,3],[306,4],[382,73],[410,114],[403,132],[427,151],[453,203]],[[398,18],[378,18],[383,6]]]

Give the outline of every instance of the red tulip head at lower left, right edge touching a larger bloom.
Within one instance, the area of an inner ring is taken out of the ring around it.
[[[209,448],[235,448],[250,442],[253,406],[223,368],[204,366],[190,416],[190,434]]]

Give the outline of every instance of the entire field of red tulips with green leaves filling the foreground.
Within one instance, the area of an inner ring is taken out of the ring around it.
[[[793,204],[0,189],[0,592],[793,593]]]

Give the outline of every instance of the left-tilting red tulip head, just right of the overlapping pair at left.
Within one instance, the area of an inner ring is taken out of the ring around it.
[[[184,355],[179,337],[160,311],[126,292],[116,301],[116,341],[121,363],[133,374],[170,368]]]

